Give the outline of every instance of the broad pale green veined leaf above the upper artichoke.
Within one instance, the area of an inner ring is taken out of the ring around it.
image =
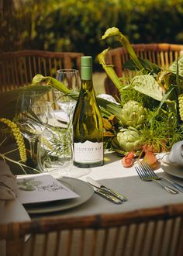
[[[161,86],[157,84],[157,81],[152,75],[136,75],[129,87],[134,88],[136,91],[150,96],[153,99],[161,101],[164,96],[164,92],[161,89]]]

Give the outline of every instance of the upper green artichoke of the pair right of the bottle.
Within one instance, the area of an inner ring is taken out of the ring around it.
[[[147,116],[147,109],[140,102],[129,100],[123,105],[121,112],[121,122],[123,126],[140,128]]]

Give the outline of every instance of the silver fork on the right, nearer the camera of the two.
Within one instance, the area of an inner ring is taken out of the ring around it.
[[[171,194],[178,194],[177,190],[171,189],[167,185],[163,185],[158,179],[158,177],[154,177],[154,175],[150,175],[149,172],[146,171],[146,169],[140,164],[138,167],[135,167],[137,174],[139,177],[143,180],[143,182],[157,182],[163,189],[165,189],[167,192]]]

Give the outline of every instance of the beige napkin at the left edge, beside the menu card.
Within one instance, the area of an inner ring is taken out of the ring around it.
[[[15,199],[17,191],[16,177],[12,175],[9,165],[0,161],[0,199]]]

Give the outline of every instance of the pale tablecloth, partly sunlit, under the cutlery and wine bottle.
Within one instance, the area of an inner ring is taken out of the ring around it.
[[[156,173],[168,178],[171,177],[183,185],[183,179],[167,175],[161,168],[157,170]],[[132,168],[124,168],[123,164],[121,164],[121,158],[116,156],[116,154],[106,154],[105,164],[102,167],[92,168],[91,172],[86,176],[94,178],[95,180],[100,180],[103,185],[109,186],[111,189],[115,189],[116,191],[123,193],[128,198],[128,201],[121,205],[115,205],[114,203],[103,199],[101,196],[94,194],[87,202],[74,207],[73,209],[68,209],[58,213],[44,213],[43,215],[34,215],[31,217],[37,218],[41,216],[66,215],[85,216],[98,213],[123,213],[136,209],[183,202],[183,192],[179,192],[177,195],[171,195],[155,182],[141,181],[136,174],[134,166]],[[83,176],[80,179],[85,181],[86,176]],[[6,209],[5,203],[2,205],[3,209],[1,209],[1,212],[4,214],[9,210],[9,208]],[[14,203],[13,205],[14,207],[19,207],[19,204],[16,205]],[[10,221],[12,221],[13,216],[10,219]],[[5,220],[5,222],[8,221],[7,218]]]

